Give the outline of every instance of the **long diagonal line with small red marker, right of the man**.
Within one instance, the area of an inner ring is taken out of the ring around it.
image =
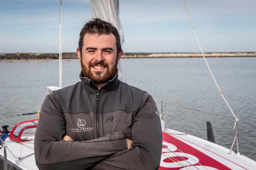
[[[186,11],[187,11],[187,13],[188,13],[188,8],[187,8],[187,5],[186,5],[186,3],[185,3],[185,0],[183,0],[183,2],[184,2],[184,4],[185,4]],[[222,93],[222,91],[220,90],[220,87],[219,87],[219,85],[217,84],[217,82],[216,82],[216,80],[215,80],[215,78],[214,78],[214,76],[213,76],[213,74],[212,74],[212,70],[211,70],[211,68],[210,68],[210,66],[209,66],[209,64],[208,64],[208,62],[207,62],[207,60],[206,60],[206,58],[205,58],[205,56],[204,56],[204,52],[203,52],[203,50],[202,50],[202,48],[201,48],[201,45],[200,45],[200,43],[199,43],[199,41],[198,41],[198,39],[197,39],[196,32],[195,32],[195,29],[194,29],[192,20],[191,20],[191,18],[190,18],[190,16],[189,16],[189,13],[188,13],[188,18],[189,18],[190,24],[191,24],[191,26],[192,26],[192,30],[193,30],[193,32],[194,32],[194,34],[195,34],[195,37],[196,37],[196,41],[197,41],[197,43],[198,43],[198,46],[199,46],[199,48],[200,48],[200,50],[201,50],[201,53],[202,53],[202,55],[203,55],[203,57],[204,57],[204,61],[205,61],[206,65],[207,65],[207,67],[208,67],[208,69],[209,69],[209,71],[210,71],[210,73],[211,73],[211,75],[212,75],[212,78],[213,78],[213,80],[214,80],[214,82],[215,82],[215,85],[216,85],[217,88],[219,89],[219,92],[220,92],[220,95],[221,95],[222,99],[226,102],[228,108],[230,109],[232,115],[233,115],[234,118],[235,118],[235,125],[234,125],[234,128],[233,128],[233,129],[235,129],[235,127],[236,127],[236,122],[238,122],[239,119],[236,117],[236,115],[234,114],[232,108],[229,106],[228,101],[227,101],[227,100],[225,99],[225,97],[223,96],[223,93]]]

